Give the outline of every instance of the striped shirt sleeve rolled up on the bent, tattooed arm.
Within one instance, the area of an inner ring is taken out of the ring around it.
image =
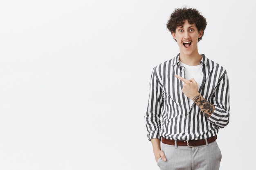
[[[226,71],[220,78],[220,82],[211,99],[211,104],[215,106],[215,109],[212,115],[208,117],[208,121],[220,128],[224,128],[229,124],[230,109],[229,79]]]

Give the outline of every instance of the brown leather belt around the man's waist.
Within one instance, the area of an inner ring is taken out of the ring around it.
[[[207,138],[207,143],[210,144],[213,141],[216,141],[217,136],[209,137]],[[193,141],[176,141],[177,146],[200,146],[200,145],[206,145],[206,139],[200,139],[200,140],[193,140]],[[162,137],[162,143],[163,144],[168,144],[168,145],[175,145],[175,140],[171,139],[165,139]]]

